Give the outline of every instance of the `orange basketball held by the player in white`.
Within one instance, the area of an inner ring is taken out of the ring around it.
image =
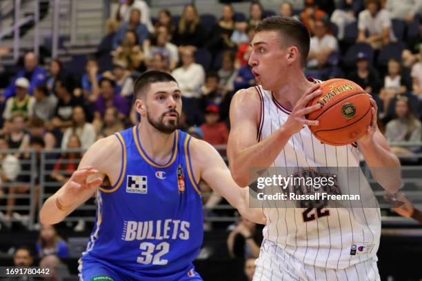
[[[328,145],[354,143],[371,123],[371,102],[361,86],[346,79],[331,79],[321,83],[322,94],[308,106],[321,103],[323,107],[308,114],[309,120],[318,120],[310,126],[312,134]]]

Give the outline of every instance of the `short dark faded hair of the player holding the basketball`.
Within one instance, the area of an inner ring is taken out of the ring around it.
[[[261,21],[255,32],[277,31],[281,37],[281,48],[292,45],[297,47],[301,54],[301,65],[305,66],[309,54],[310,35],[308,29],[296,19],[272,16]]]

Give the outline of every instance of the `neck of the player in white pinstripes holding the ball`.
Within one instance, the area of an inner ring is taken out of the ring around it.
[[[313,82],[306,79],[303,72],[288,75],[285,80],[288,83],[281,84],[277,89],[272,91],[274,97],[288,110],[292,110],[297,101],[312,87]]]

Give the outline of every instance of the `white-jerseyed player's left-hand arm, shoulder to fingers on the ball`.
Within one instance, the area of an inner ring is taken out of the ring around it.
[[[318,110],[321,105],[307,107],[308,103],[319,96],[319,84],[315,84],[303,94],[294,106],[288,121],[265,140],[257,142],[261,116],[261,100],[253,87],[239,90],[230,104],[230,136],[228,139],[228,158],[230,171],[236,183],[245,187],[254,179],[249,178],[252,167],[270,167],[289,138],[299,132],[303,125],[317,125],[309,121],[306,114]]]

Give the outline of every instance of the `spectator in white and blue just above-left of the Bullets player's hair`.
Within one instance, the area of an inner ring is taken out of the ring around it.
[[[107,71],[103,73],[103,77],[111,79],[116,83],[117,94],[125,98],[131,98],[133,95],[133,78],[131,72],[126,69],[123,61],[114,61],[112,72]]]

